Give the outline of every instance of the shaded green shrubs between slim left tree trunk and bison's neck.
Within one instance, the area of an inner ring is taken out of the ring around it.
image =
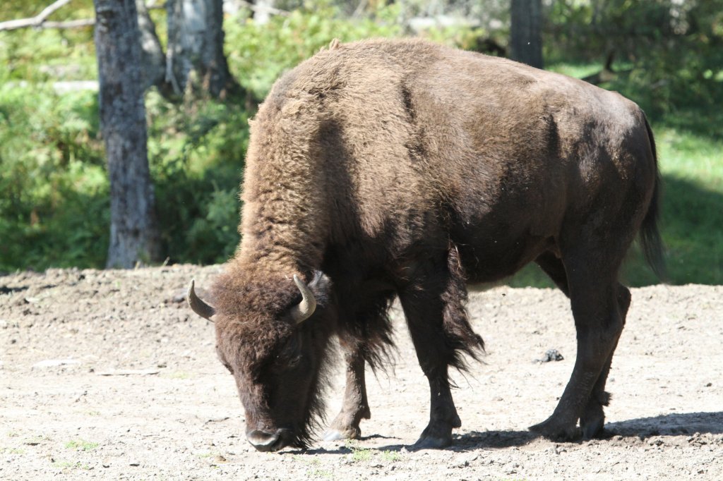
[[[241,99],[174,105],[147,95],[148,157],[166,255],[222,262],[239,243],[239,184],[248,144]]]

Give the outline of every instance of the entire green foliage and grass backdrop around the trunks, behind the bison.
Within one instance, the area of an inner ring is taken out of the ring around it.
[[[220,262],[239,243],[239,181],[254,103],[286,69],[328,45],[408,35],[414,16],[455,10],[474,27],[432,27],[440,43],[504,46],[503,0],[428,2],[279,1],[288,16],[265,25],[249,10],[226,17],[232,73],[249,97],[168,103],[146,97],[148,157],[166,255],[171,262]],[[5,0],[0,20],[31,17],[48,2]],[[614,52],[615,77],[602,87],[643,106],[654,122],[664,175],[662,232],[672,282],[723,283],[723,0],[555,0],[544,25],[546,64],[576,77]],[[354,15],[352,15],[354,14]],[[165,32],[163,10],[153,10]],[[74,0],[52,20],[93,16]],[[54,82],[96,78],[93,30],[0,32],[0,271],[103,267],[108,248],[108,180],[97,94],[59,93]],[[633,251],[633,285],[656,282]],[[534,266],[513,285],[549,285]]]

